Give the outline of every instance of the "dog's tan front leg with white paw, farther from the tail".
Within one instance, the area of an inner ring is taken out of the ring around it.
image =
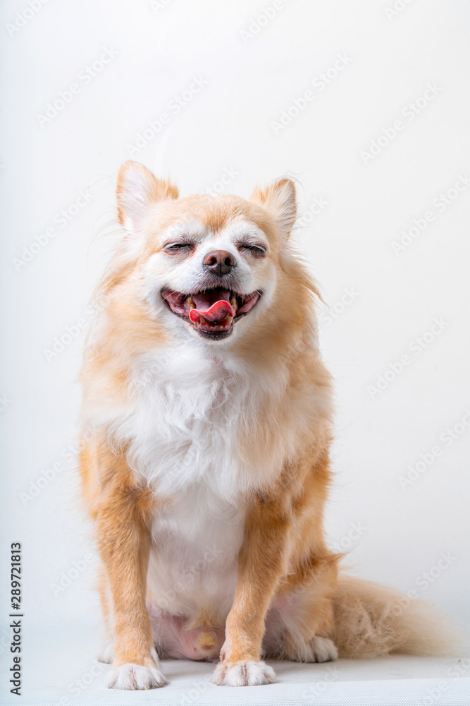
[[[135,487],[114,484],[97,507],[97,539],[111,592],[115,638],[109,688],[163,686],[145,605],[150,532],[144,496]]]

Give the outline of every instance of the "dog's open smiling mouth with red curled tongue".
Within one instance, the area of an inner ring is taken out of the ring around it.
[[[252,311],[261,292],[238,294],[218,287],[184,294],[163,289],[161,296],[169,309],[191,323],[197,333],[221,340],[232,333],[237,319]]]

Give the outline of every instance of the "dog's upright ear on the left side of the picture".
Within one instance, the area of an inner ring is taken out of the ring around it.
[[[163,198],[178,198],[178,189],[170,181],[156,179],[143,164],[129,160],[119,169],[116,196],[120,224],[136,233],[148,205]]]

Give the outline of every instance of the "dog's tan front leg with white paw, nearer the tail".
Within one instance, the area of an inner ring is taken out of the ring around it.
[[[261,642],[266,612],[285,570],[289,527],[285,506],[276,500],[258,499],[249,510],[221,662],[212,676],[219,686],[256,686],[276,679],[261,662]]]

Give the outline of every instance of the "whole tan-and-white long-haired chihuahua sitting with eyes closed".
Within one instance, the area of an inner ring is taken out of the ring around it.
[[[343,575],[326,544],[332,388],[293,182],[179,198],[126,162],[117,202],[80,455],[109,687],[163,686],[165,657],[247,686],[275,680],[266,657],[442,652],[425,604]]]

